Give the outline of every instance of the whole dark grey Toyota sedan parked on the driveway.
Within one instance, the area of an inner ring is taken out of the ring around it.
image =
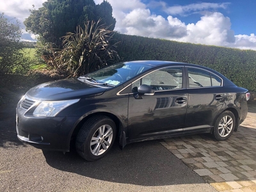
[[[17,105],[17,136],[88,161],[136,141],[211,133],[226,140],[244,121],[250,93],[206,67],[171,61],[117,63],[31,88]]]

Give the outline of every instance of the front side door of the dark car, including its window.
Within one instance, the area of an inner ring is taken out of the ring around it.
[[[183,131],[188,103],[183,67],[168,67],[148,73],[132,83],[129,95],[129,140],[168,136]],[[138,95],[138,87],[147,84],[154,95]]]

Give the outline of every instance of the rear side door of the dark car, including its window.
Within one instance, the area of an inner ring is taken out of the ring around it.
[[[223,80],[212,72],[195,67],[186,67],[186,74],[188,109],[184,131],[209,129],[224,104]]]

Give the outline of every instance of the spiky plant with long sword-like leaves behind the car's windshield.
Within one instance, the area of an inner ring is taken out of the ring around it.
[[[43,56],[48,67],[75,77],[115,63],[119,57],[113,42],[114,32],[99,23],[100,20],[88,21],[84,28],[77,26],[76,33],[67,33],[60,51],[50,47],[52,54]]]

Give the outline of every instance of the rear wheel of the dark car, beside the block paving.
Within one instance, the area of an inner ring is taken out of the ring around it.
[[[216,140],[227,140],[234,132],[236,118],[231,111],[224,111],[218,116],[215,125],[213,136]]]

